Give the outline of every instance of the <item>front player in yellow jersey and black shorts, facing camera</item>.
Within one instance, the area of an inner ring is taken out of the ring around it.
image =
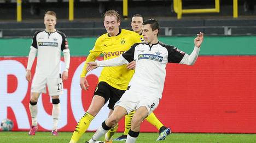
[[[118,57],[134,44],[141,42],[138,34],[130,30],[120,29],[120,16],[115,10],[108,10],[104,14],[104,27],[107,30],[106,34],[101,35],[95,42],[94,48],[90,51],[83,71],[80,75],[80,86],[84,90],[88,90],[89,84],[85,79],[87,73],[86,67],[89,61],[95,61],[100,54],[104,55],[104,60]],[[84,132],[88,129],[90,122],[98,114],[103,105],[109,100],[108,107],[110,109],[109,115],[114,109],[114,105],[119,101],[124,94],[127,86],[133,76],[134,70],[127,69],[126,65],[115,67],[104,67],[100,77],[98,78],[98,85],[92,97],[91,104],[79,120],[73,132],[70,142],[77,142]],[[113,127],[110,132],[109,139],[106,142],[112,142],[112,134],[117,130],[117,126]]]

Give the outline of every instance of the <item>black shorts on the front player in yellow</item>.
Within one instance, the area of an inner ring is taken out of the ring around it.
[[[105,104],[109,100],[108,108],[114,110],[115,103],[120,100],[124,92],[125,90],[119,90],[119,89],[113,88],[106,82],[100,82],[96,86],[94,95],[103,97],[105,99]]]

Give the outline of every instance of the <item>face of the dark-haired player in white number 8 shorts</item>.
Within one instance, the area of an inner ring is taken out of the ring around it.
[[[150,24],[142,26],[142,35],[146,43],[151,44],[157,39],[158,30],[152,30]]]

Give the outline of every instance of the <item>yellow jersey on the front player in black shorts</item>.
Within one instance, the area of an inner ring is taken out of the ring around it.
[[[94,48],[90,51],[80,77],[85,77],[87,73],[86,63],[95,61],[100,54],[103,54],[104,60],[112,59],[130,49],[133,44],[140,42],[141,38],[138,34],[125,29],[120,29],[117,36],[110,37],[107,33],[101,35],[96,40]],[[106,82],[116,89],[126,90],[133,73],[134,70],[127,70],[126,65],[103,67],[98,82]]]

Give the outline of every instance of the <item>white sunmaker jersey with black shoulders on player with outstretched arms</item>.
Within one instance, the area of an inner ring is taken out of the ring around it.
[[[135,73],[129,83],[129,90],[133,90],[142,97],[162,97],[166,76],[167,63],[194,64],[199,49],[188,55],[178,48],[158,42],[152,46],[147,43],[136,43],[122,56],[110,60],[97,61],[98,66],[116,66],[136,60]]]

